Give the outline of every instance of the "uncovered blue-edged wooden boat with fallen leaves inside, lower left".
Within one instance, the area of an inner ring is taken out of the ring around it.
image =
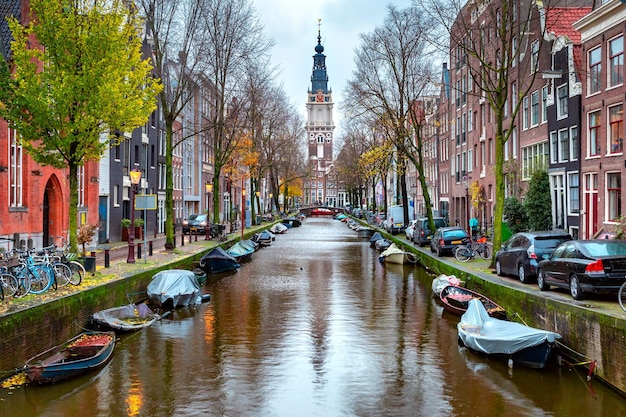
[[[63,381],[101,368],[115,347],[114,332],[84,332],[30,358],[24,366],[33,384]]]

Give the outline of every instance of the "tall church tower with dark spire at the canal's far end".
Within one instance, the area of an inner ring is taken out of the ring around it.
[[[305,204],[337,205],[337,181],[333,167],[333,96],[328,88],[326,55],[323,54],[321,19],[318,22],[317,45],[313,55],[313,74],[308,91],[306,132],[308,163],[312,178],[305,187]]]

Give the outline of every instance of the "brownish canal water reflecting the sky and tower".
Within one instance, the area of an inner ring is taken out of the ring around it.
[[[0,416],[619,416],[583,369],[472,354],[419,267],[383,265],[344,223],[307,219],[210,303],[120,338],[101,371],[0,390]],[[621,360],[621,358],[620,358]]]

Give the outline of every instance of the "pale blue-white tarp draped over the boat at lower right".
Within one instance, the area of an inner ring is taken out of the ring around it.
[[[470,300],[457,330],[465,346],[486,354],[512,354],[561,338],[558,333],[490,317],[476,298]]]

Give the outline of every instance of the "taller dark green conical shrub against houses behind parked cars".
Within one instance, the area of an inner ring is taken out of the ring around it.
[[[552,201],[550,200],[550,178],[548,172],[533,173],[524,199],[530,230],[552,229]]]

